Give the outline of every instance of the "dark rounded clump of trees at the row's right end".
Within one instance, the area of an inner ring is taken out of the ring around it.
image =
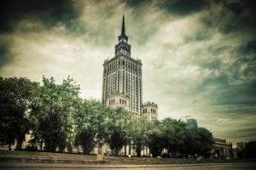
[[[184,122],[166,118],[157,122],[154,131],[149,134],[149,149],[153,156],[160,156],[164,148],[167,155],[177,156],[205,156],[208,157],[212,149],[212,133],[206,128],[188,129]],[[166,155],[165,155],[166,156]]]

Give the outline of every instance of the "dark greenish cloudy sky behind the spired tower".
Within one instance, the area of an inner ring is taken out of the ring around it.
[[[215,137],[256,139],[256,8],[253,0],[3,0],[0,76],[67,75],[101,99],[125,14],[143,98],[160,118],[192,116]]]

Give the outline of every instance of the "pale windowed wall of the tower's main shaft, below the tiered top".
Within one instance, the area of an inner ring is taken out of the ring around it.
[[[102,103],[107,105],[112,95],[125,94],[129,97],[127,111],[140,116],[143,89],[140,60],[120,55],[106,60],[103,66]]]

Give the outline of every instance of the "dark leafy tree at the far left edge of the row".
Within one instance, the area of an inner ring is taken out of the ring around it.
[[[0,77],[0,142],[9,144],[9,148],[17,139],[16,149],[20,149],[31,129],[29,108],[37,87],[37,82],[26,77]]]

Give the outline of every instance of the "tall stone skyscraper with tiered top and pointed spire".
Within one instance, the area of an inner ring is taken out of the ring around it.
[[[141,116],[148,121],[157,120],[157,105],[153,102],[143,104],[143,64],[140,59],[131,57],[124,15],[118,39],[114,57],[103,64],[102,103],[113,108],[124,107],[133,116]]]

